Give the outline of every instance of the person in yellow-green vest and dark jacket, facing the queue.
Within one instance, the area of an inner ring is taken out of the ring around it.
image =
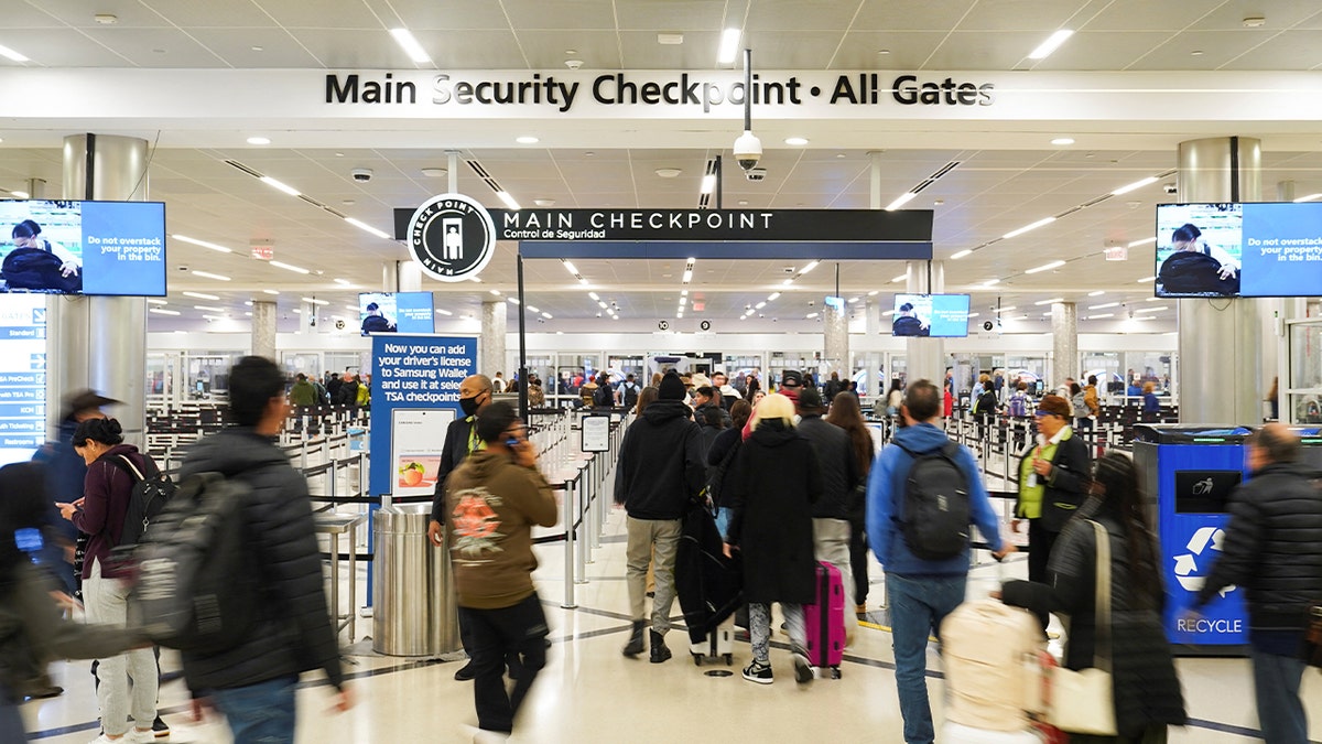
[[[1069,428],[1069,401],[1043,396],[1035,416],[1038,443],[1019,461],[1019,498],[1010,528],[1018,532],[1019,520],[1029,520],[1029,581],[1046,582],[1051,545],[1088,498],[1092,458]]]

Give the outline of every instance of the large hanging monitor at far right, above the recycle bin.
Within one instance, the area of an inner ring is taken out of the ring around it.
[[[1322,203],[1157,205],[1157,297],[1314,297]]]

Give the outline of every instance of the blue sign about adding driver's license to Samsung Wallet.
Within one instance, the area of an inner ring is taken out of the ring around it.
[[[477,339],[371,338],[371,492],[427,496],[436,487],[446,428],[463,413],[459,384],[477,372]]]

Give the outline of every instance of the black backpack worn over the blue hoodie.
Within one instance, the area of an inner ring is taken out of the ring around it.
[[[899,445],[899,442],[896,442]],[[892,516],[904,543],[921,560],[947,560],[969,545],[969,482],[956,457],[960,445],[945,442],[929,453],[915,453],[904,482],[903,510]]]

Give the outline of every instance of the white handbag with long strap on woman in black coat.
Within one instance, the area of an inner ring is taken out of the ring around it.
[[[1110,536],[1088,520],[1097,535],[1097,642],[1092,669],[1058,667],[1051,674],[1047,720],[1060,731],[1116,736],[1116,695],[1110,676]]]

